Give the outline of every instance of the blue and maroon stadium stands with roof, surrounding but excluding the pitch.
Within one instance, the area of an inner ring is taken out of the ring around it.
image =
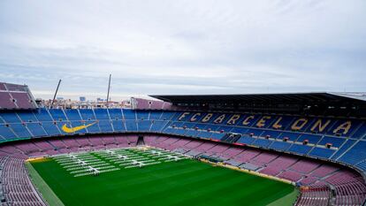
[[[133,110],[37,108],[27,86],[5,83],[0,96],[4,205],[44,205],[24,166],[30,157],[138,144],[289,181],[301,191],[295,205],[365,202],[360,93],[151,95],[163,101],[133,99]]]

